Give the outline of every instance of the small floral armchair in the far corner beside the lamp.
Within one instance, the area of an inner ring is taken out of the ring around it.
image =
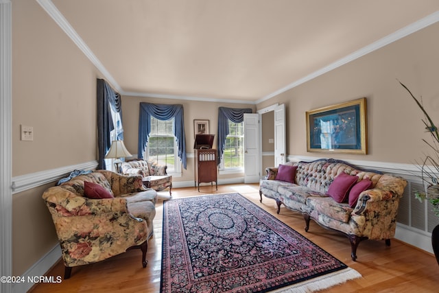
[[[147,188],[161,191],[172,189],[172,176],[166,172],[167,165],[158,165],[156,161],[133,160],[121,164],[121,173],[124,175],[142,175],[143,183]]]

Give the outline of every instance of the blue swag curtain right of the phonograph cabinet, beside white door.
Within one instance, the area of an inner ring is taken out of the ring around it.
[[[252,113],[252,109],[236,109],[236,108],[218,108],[218,165],[222,161],[224,154],[224,145],[228,136],[228,121],[241,123],[244,121],[244,113]]]

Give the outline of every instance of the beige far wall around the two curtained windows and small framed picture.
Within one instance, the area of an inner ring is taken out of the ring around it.
[[[123,112],[123,141],[126,148],[131,154],[137,154],[137,143],[139,141],[139,104],[141,102],[153,104],[182,104],[185,114],[185,134],[186,134],[186,153],[193,154],[193,120],[202,119],[209,120],[210,134],[215,134],[213,141],[213,148],[217,148],[217,133],[218,133],[218,107],[230,108],[252,108],[254,105],[249,104],[232,104],[220,102],[193,102],[180,99],[158,99],[152,97],[122,97],[122,112]],[[187,169],[182,169],[181,177],[173,177],[174,182],[178,181],[193,181],[193,158],[187,158]],[[233,178],[236,174],[219,175],[218,179]]]

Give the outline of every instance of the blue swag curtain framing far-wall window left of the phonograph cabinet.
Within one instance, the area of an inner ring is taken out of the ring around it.
[[[174,136],[177,141],[178,157],[186,169],[186,138],[185,119],[182,105],[165,105],[140,103],[139,113],[139,159],[143,159],[148,139],[151,132],[151,116],[158,120],[169,120],[174,118]]]

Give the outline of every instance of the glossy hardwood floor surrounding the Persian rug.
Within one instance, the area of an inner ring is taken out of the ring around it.
[[[439,266],[433,255],[396,239],[392,239],[390,247],[385,246],[384,241],[366,240],[358,246],[357,261],[352,261],[351,245],[346,237],[313,221],[306,233],[300,213],[282,207],[277,215],[274,200],[263,197],[262,203],[259,202],[258,187],[257,184],[220,185],[216,191],[211,185],[202,185],[200,192],[194,187],[172,189],[172,197],[239,192],[362,275],[320,292],[439,292]],[[161,191],[158,194],[154,237],[149,242],[146,268],[141,265],[141,251],[129,250],[106,261],[75,267],[70,279],[54,284],[40,283],[30,292],[160,292],[163,198],[169,193]],[[47,275],[64,277],[62,261]]]

